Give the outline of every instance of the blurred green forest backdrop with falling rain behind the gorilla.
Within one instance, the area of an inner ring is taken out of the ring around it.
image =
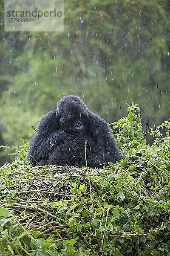
[[[26,120],[69,93],[108,122],[132,101],[153,128],[170,116],[169,0],[65,0],[64,32],[4,32],[3,16],[1,1],[0,144],[30,141]]]

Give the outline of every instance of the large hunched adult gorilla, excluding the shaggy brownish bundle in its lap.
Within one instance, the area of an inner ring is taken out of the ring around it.
[[[96,113],[89,111],[85,103],[75,95],[60,99],[57,109],[44,116],[37,129],[37,134],[30,145],[28,161],[33,165],[45,163],[59,145],[73,141],[79,136],[89,136],[97,148],[97,157],[91,159],[93,167],[102,167],[108,162],[120,160],[119,148],[111,134],[108,123]],[[65,147],[64,147],[65,148]],[[63,148],[63,154],[69,154]],[[76,155],[76,147],[75,154]],[[67,157],[68,159],[68,157]],[[53,164],[57,164],[56,162]]]

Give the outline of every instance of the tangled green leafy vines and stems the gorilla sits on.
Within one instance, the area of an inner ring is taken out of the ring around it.
[[[24,144],[0,168],[0,255],[170,255],[170,122],[146,131],[150,146],[127,111],[110,125],[120,163],[32,167]]]

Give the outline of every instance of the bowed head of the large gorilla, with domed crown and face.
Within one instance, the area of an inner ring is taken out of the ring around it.
[[[57,104],[57,118],[64,131],[71,134],[87,134],[89,110],[77,96],[63,97]]]

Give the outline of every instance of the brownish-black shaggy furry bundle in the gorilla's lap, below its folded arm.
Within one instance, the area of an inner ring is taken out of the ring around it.
[[[80,128],[79,128],[80,129]],[[85,152],[86,148],[86,152]],[[54,152],[45,162],[48,165],[59,166],[86,166],[85,154],[88,167],[96,167],[92,157],[95,157],[94,141],[87,135],[78,135],[74,140],[66,140],[54,149]],[[97,155],[96,155],[97,157]],[[41,164],[45,164],[44,162]]]

